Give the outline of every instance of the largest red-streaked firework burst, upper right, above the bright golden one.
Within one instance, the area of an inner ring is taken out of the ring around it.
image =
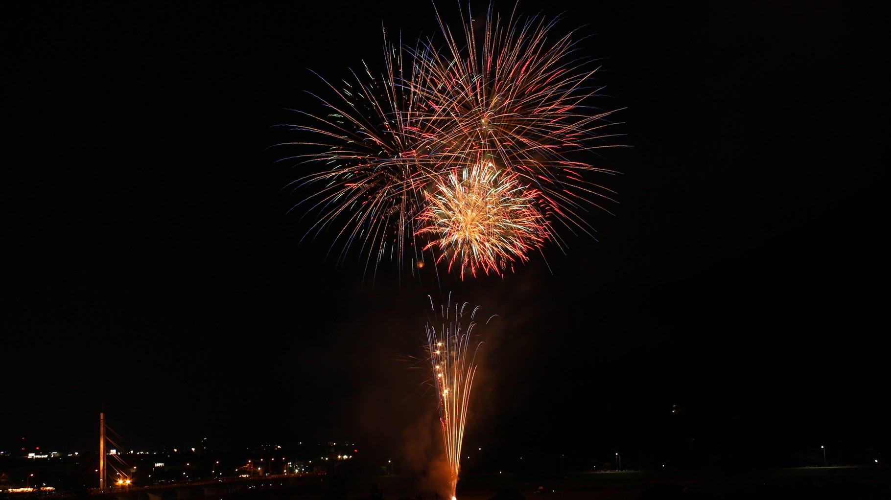
[[[586,214],[606,210],[601,201],[614,193],[589,173],[616,172],[590,159],[615,146],[608,133],[615,110],[593,105],[604,96],[594,60],[580,55],[584,38],[554,36],[559,19],[514,12],[503,20],[491,6],[481,28],[462,13],[462,36],[437,19],[445,50],[428,41],[413,52],[413,93],[427,107],[425,148],[438,165],[502,165],[540,190],[543,214],[593,234]]]

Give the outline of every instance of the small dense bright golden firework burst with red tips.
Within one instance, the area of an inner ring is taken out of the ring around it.
[[[476,277],[478,270],[502,274],[551,238],[550,224],[535,205],[538,191],[491,163],[453,169],[426,196],[417,234],[431,234],[424,250],[437,246],[437,262],[447,260],[450,271],[460,267],[461,278]]]

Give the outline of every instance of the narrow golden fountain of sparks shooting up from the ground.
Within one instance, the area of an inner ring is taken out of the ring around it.
[[[439,311],[438,329],[430,322],[427,323],[427,346],[449,466],[450,496],[454,500],[461,468],[461,445],[464,425],[467,423],[470,388],[473,385],[473,375],[477,371],[476,354],[482,342],[474,335],[479,306],[470,312],[470,322],[462,324],[467,319],[470,303],[464,302],[460,306],[455,304],[452,310],[451,301],[452,295],[449,294],[448,302]],[[430,309],[436,312],[432,297]],[[486,320],[486,324],[493,318],[495,316]]]

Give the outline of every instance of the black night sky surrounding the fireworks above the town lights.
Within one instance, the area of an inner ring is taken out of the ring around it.
[[[593,35],[633,146],[597,160],[618,203],[546,263],[433,286],[298,244],[299,169],[266,149],[309,69],[380,64],[382,24],[432,35],[433,7],[301,4],[6,6],[0,449],[95,448],[104,409],[134,448],[411,455],[437,425],[411,359],[449,291],[499,316],[469,447],[888,445],[874,12],[521,2]]]

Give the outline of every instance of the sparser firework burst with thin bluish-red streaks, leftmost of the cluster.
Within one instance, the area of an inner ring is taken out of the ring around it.
[[[334,85],[320,77],[328,95],[313,94],[323,111],[297,111],[308,125],[282,125],[307,139],[279,144],[301,147],[284,158],[321,168],[291,182],[293,190],[310,194],[291,208],[315,214],[307,231],[336,232],[339,259],[358,246],[366,269],[377,262],[403,262],[406,255],[421,259],[413,246],[414,217],[421,211],[425,187],[435,179],[434,165],[419,151],[423,115],[411,81],[403,69],[405,53],[385,42],[385,71],[375,76],[367,66],[350,80]]]

